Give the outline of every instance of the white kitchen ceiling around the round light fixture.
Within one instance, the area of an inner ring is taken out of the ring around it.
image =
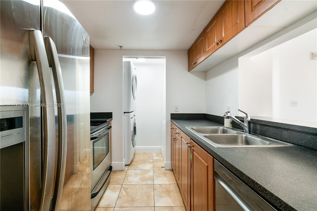
[[[90,35],[95,49],[187,50],[224,0],[153,0],[152,15],[134,0],[61,0]]]

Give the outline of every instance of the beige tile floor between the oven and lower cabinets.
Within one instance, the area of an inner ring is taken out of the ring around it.
[[[95,211],[186,211],[174,174],[160,153],[135,153],[125,170],[112,171]]]

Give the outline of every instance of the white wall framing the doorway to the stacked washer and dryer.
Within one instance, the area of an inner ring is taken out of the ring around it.
[[[123,56],[166,57],[165,167],[170,169],[170,113],[205,113],[206,73],[189,73],[187,51],[95,50],[95,93],[91,112],[112,112],[112,166],[124,168],[123,154]]]

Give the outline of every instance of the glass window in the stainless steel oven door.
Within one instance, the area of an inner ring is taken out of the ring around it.
[[[106,158],[109,153],[109,136],[103,136],[101,139],[93,142],[93,169],[95,170]]]

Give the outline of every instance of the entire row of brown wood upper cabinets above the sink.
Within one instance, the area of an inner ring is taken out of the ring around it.
[[[278,1],[226,0],[189,48],[188,71],[238,35]]]

